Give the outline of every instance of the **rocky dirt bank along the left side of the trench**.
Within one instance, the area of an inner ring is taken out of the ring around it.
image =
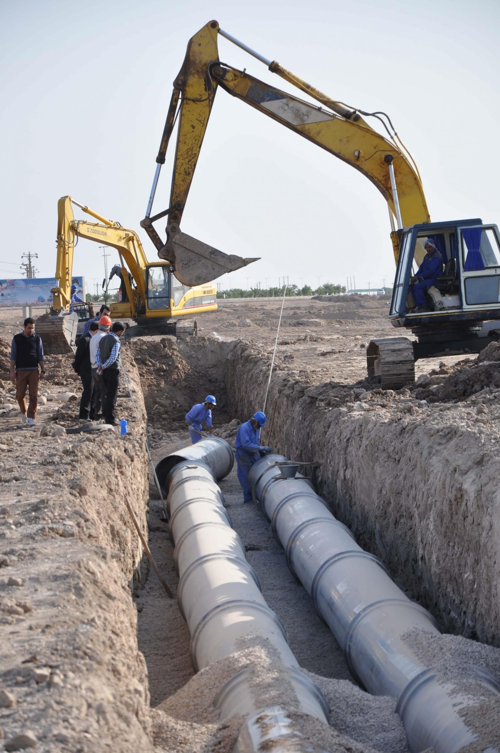
[[[153,750],[131,594],[142,549],[125,506],[127,499],[146,532],[145,408],[136,366],[123,350],[139,410],[137,420],[122,383],[117,404],[130,434],[66,434],[78,415],[75,402],[51,420],[42,410],[32,429],[18,429],[14,411],[2,433],[0,737],[6,750]],[[71,360],[46,359],[52,392],[72,379]],[[0,386],[11,399],[11,386]]]

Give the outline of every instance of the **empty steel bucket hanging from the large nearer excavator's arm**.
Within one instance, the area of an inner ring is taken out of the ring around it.
[[[175,277],[190,288],[194,285],[204,285],[227,272],[246,267],[260,258],[244,259],[241,256],[224,254],[212,245],[181,233],[178,229],[175,230],[172,225],[169,227],[169,239],[166,245],[160,248],[158,256],[170,261]]]

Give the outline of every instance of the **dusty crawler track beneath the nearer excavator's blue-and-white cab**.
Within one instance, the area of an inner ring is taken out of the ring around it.
[[[415,381],[413,343],[407,337],[370,340],[366,359],[368,378],[382,389],[401,389]]]

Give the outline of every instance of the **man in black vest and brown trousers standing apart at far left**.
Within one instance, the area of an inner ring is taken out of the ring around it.
[[[40,364],[40,376],[38,376]],[[24,330],[14,335],[11,344],[11,382],[16,385],[16,398],[21,409],[21,419],[29,426],[35,424],[38,405],[38,379],[44,378],[44,349],[41,338],[35,334],[35,319],[24,320]],[[26,390],[29,406],[26,416]]]

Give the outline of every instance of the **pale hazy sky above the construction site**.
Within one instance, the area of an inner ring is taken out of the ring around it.
[[[498,2],[0,0],[0,276],[20,276],[28,250],[38,276],[53,275],[65,194],[136,230],[157,259],[139,222],[172,81],[188,39],[212,18],[332,98],[389,113],[432,220],[498,222]],[[219,54],[292,90],[221,37]],[[170,170],[167,161],[156,212],[168,206]],[[278,285],[283,275],[313,287],[351,276],[373,288],[395,273],[387,205],[370,181],[223,90],[181,227],[262,258],[221,278],[223,288],[246,287],[247,277]],[[78,245],[73,272],[87,285],[102,281],[101,255]]]

